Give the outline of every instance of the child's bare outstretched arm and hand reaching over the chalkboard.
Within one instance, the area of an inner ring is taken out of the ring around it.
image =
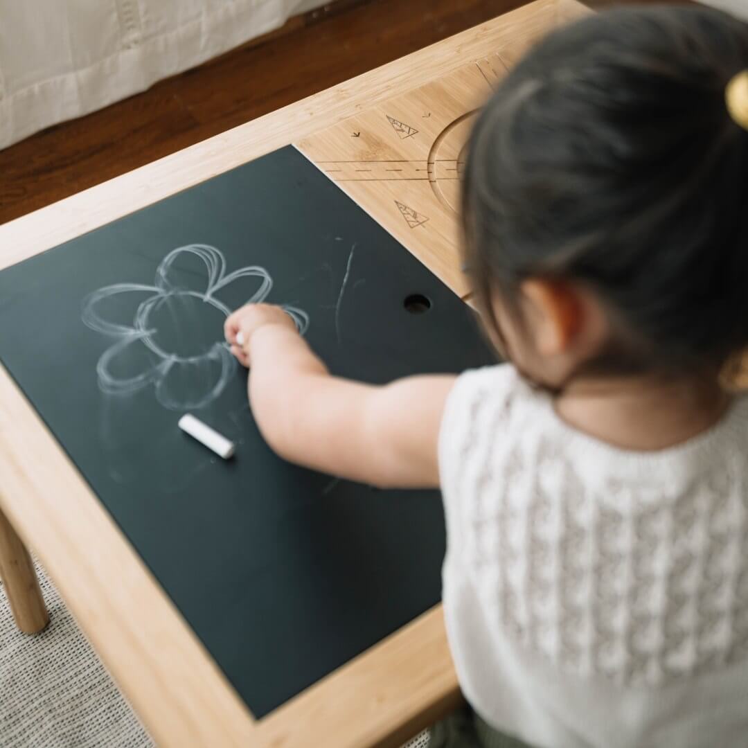
[[[260,432],[283,458],[383,488],[439,485],[438,433],[454,376],[383,387],[335,378],[292,319],[268,304],[237,310],[225,332],[233,354],[251,367]]]

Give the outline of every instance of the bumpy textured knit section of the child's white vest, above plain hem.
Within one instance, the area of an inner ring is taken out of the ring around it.
[[[745,410],[684,447],[631,453],[565,426],[509,367],[463,375],[441,469],[450,548],[491,625],[626,685],[744,659]]]

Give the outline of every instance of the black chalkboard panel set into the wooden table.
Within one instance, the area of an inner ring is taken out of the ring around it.
[[[465,304],[292,147],[0,272],[0,359],[263,717],[439,601],[444,518],[437,491],[272,454],[221,346],[250,298],[286,304],[338,375],[492,360]],[[236,456],[180,432],[186,411]]]

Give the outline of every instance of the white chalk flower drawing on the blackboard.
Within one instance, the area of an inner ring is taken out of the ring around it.
[[[174,267],[177,260],[191,258],[193,268],[202,268],[194,257],[205,272],[198,289],[178,283]],[[102,391],[125,394],[153,384],[156,399],[171,410],[202,408],[218,397],[237,364],[223,334],[231,310],[215,294],[240,278],[259,282],[246,303],[265,301],[273,286],[266,269],[249,266],[227,274],[220,251],[191,244],[164,257],[153,286],[116,283],[88,295],[82,307],[85,325],[119,339],[96,365]],[[112,302],[117,308],[132,304],[132,324],[122,324],[117,319],[121,315],[111,314]],[[304,334],[307,313],[287,305],[283,309]]]

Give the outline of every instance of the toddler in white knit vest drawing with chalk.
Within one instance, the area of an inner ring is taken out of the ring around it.
[[[748,399],[723,382],[748,346],[748,25],[568,25],[468,153],[465,263],[511,363],[358,384],[247,306],[226,337],[254,417],[300,465],[441,487],[471,711],[433,745],[747,746]]]

